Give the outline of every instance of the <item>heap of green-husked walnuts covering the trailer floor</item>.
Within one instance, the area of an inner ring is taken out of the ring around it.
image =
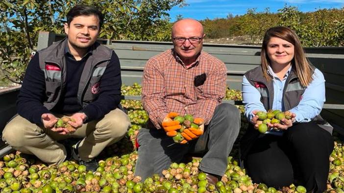
[[[130,87],[134,89],[134,86]],[[133,91],[131,89],[128,89],[127,93],[138,92],[138,90]],[[123,100],[123,102],[127,103],[128,100]],[[137,104],[133,103],[133,106],[135,105]],[[42,192],[42,189],[48,185],[52,188],[52,192],[55,193],[134,193],[140,190],[141,192],[150,193],[158,192],[159,190],[167,193],[194,193],[197,191],[206,193],[307,192],[303,189],[304,187],[300,187],[303,184],[297,184],[297,186],[290,185],[276,190],[273,187],[253,183],[250,176],[246,174],[246,170],[238,165],[237,142],[233,146],[230,157],[228,157],[225,174],[215,186],[203,180],[204,176],[200,175],[201,171],[198,169],[201,159],[195,157],[194,159],[186,159],[181,163],[173,163],[164,172],[154,174],[146,180],[142,180],[139,176],[134,176],[138,157],[137,151],[134,149],[134,142],[143,124],[135,124],[135,122],[138,122],[139,119],[144,119],[143,115],[146,112],[141,111],[143,108],[139,111],[133,106],[129,108],[131,110],[129,112],[130,116],[135,117],[134,120],[131,120],[133,126],[129,129],[131,135],[123,137],[121,141],[105,148],[98,155],[99,168],[101,168],[98,169],[98,172],[87,171],[85,166],[78,165],[73,161],[66,161],[58,166],[48,166],[37,158],[26,158],[20,152],[10,153],[0,160],[1,192],[38,193]],[[267,113],[267,118],[269,118],[269,112]],[[284,115],[287,119],[285,112]],[[241,116],[242,122],[238,141],[240,141],[249,125],[245,116],[243,114]],[[274,118],[274,115],[272,118]],[[144,121],[143,123],[145,124]],[[277,121],[279,120],[277,119]],[[189,124],[191,125],[191,123]],[[338,138],[336,132],[333,133],[333,137],[335,139],[335,148],[329,156],[330,171],[325,192],[343,193],[344,143]],[[131,186],[132,184],[129,184],[128,188],[126,182],[129,180],[133,181],[134,185]],[[18,183],[20,184],[20,190],[17,190]],[[11,185],[14,190],[11,189]],[[46,188],[45,190],[50,192],[51,189]]]

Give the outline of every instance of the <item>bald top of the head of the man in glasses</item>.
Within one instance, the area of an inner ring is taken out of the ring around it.
[[[185,29],[193,29],[193,31],[199,32],[201,36],[204,35],[202,23],[194,19],[182,19],[173,24],[172,37],[174,37],[174,35],[178,33],[180,30]]]

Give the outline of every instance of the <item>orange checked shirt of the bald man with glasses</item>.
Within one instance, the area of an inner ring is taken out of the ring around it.
[[[203,85],[195,86],[195,76],[206,74]],[[213,117],[215,107],[225,96],[227,68],[219,59],[201,52],[197,61],[185,66],[173,49],[150,58],[142,83],[142,105],[157,129],[169,112]]]

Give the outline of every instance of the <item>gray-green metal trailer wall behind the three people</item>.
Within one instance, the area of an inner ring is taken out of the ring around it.
[[[38,49],[47,47],[65,35],[41,32]],[[121,61],[125,85],[140,83],[147,60],[169,48],[171,42],[99,40],[115,50]],[[260,46],[204,44],[203,50],[227,66],[227,85],[241,90],[244,73],[260,64]],[[308,59],[319,68],[326,80],[326,104],[321,114],[331,123],[344,128],[344,47],[307,47]]]

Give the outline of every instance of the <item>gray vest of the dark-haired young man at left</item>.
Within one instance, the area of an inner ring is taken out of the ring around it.
[[[67,42],[68,39],[65,38],[38,51],[39,65],[44,71],[46,83],[47,99],[43,105],[49,110],[57,104],[66,85],[65,46]],[[91,48],[92,54],[85,63],[77,91],[77,99],[81,107],[85,107],[98,97],[101,76],[112,56],[111,49],[97,42]]]

